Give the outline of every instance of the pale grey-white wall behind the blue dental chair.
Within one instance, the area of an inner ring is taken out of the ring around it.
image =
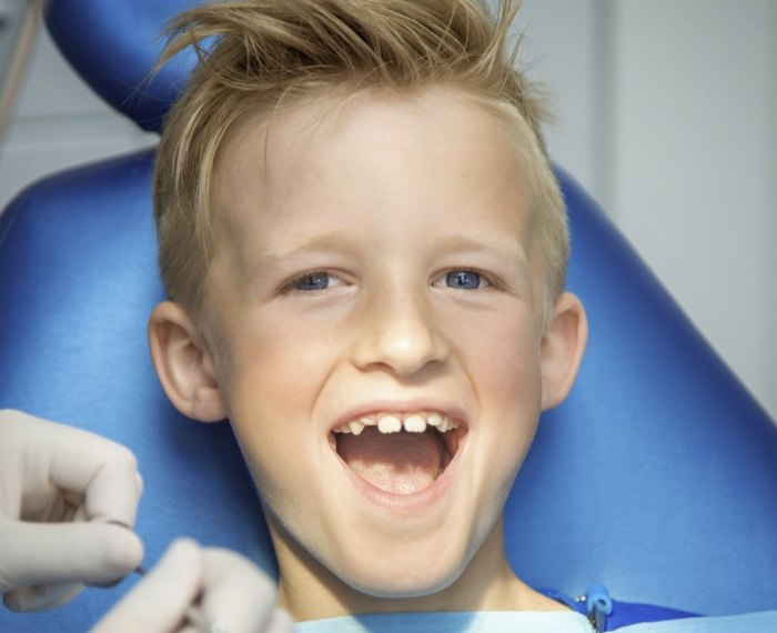
[[[557,97],[554,158],[777,418],[777,2],[525,0],[518,22]],[[0,205],[153,140],[42,37],[0,145]]]

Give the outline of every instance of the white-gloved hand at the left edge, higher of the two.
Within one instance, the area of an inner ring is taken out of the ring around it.
[[[85,431],[0,411],[0,593],[13,611],[63,604],[134,570],[134,455]],[[118,522],[125,525],[111,525]]]

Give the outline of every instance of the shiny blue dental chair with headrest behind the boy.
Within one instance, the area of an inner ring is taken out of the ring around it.
[[[155,36],[192,0],[51,0],[46,23],[109,103],[159,130],[182,56],[149,81]],[[131,448],[145,481],[138,533],[151,565],[180,535],[275,562],[228,424],[167,402],[145,343],[163,299],[153,150],[47,178],[0,215],[0,406]],[[777,426],[566,173],[568,287],[591,339],[569,399],[541,421],[506,510],[507,547],[534,586],[705,614],[777,609]],[[132,584],[88,587],[1,631],[84,631]]]

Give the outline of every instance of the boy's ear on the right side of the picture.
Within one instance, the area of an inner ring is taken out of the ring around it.
[[[564,292],[556,301],[542,340],[543,411],[569,393],[588,339],[588,321],[577,297]]]

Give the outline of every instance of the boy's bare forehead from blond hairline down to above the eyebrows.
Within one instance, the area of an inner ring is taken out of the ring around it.
[[[221,155],[215,225],[242,241],[261,215],[264,228],[283,227],[291,240],[304,232],[292,210],[315,207],[316,217],[305,218],[313,231],[347,229],[360,210],[387,209],[404,195],[418,213],[445,204],[451,219],[498,207],[501,228],[525,233],[531,194],[504,128],[441,89],[363,91],[249,117]]]

